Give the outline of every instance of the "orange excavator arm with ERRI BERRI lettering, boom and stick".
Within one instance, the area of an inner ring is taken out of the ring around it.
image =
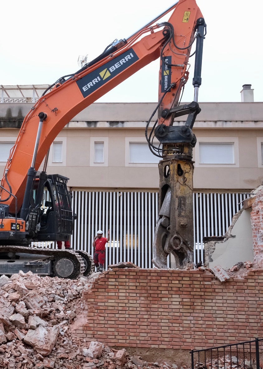
[[[171,15],[167,22],[153,24],[168,12],[171,12]],[[201,35],[198,28],[200,24],[204,28],[203,16],[195,0],[180,0],[129,38],[115,40],[101,55],[84,65],[76,73],[64,76],[54,83],[50,92],[45,93],[25,117],[15,145],[11,150],[10,158],[7,161],[4,176],[1,180],[0,201],[9,207],[9,213],[26,220],[30,209],[30,193],[32,193],[32,187],[35,183],[35,173],[62,128],[84,108],[158,58],[160,58],[161,64],[159,113],[155,135],[163,147],[160,156],[165,161],[169,161],[171,158],[174,160],[174,155],[178,154],[177,144],[179,140],[179,145],[184,146],[186,144],[184,149],[187,151],[187,155],[182,160],[184,164],[186,161],[190,162],[190,172],[192,172],[193,165],[189,151],[194,146],[194,136],[191,128],[195,115],[198,113],[198,104],[195,102],[181,108],[178,107],[178,103],[181,89],[188,79],[187,68],[191,45],[195,39],[198,41],[204,35],[204,33]],[[201,80],[197,85],[200,84]],[[197,99],[195,100],[197,101]],[[174,117],[183,114],[189,115],[190,119],[188,121],[190,123],[187,121],[184,127],[173,127]],[[148,127],[146,130],[149,131]],[[150,143],[149,138],[148,141]],[[162,183],[163,168],[167,169],[167,165],[170,170],[170,178],[173,176],[172,166],[169,165],[169,162],[167,163],[159,165],[159,168],[162,166],[162,169],[160,169],[160,186],[162,186],[160,190],[160,210],[164,204],[166,207],[173,206],[173,197],[177,192],[172,180],[165,184]],[[180,164],[180,166],[182,169],[184,168],[183,164]],[[178,165],[177,169],[174,170],[177,173],[179,172]],[[186,174],[176,182],[182,182],[183,186],[188,186],[191,192],[192,185],[185,178],[187,178]],[[189,196],[189,194],[186,196]],[[185,203],[182,200],[181,207],[183,204],[187,206],[188,202]],[[173,216],[173,212],[170,212],[169,217],[166,216],[166,218],[169,218],[169,226],[165,227],[165,231],[157,227],[159,231],[156,233],[155,242],[161,241],[160,249],[154,245],[157,250],[154,255],[157,258],[167,256],[167,253],[170,252],[170,243],[167,240],[173,236],[173,232],[176,232],[177,235],[177,231],[171,227]],[[161,216],[161,218],[163,217]],[[167,221],[163,221],[161,218],[159,223],[163,227]],[[166,232],[166,236],[160,238],[160,233],[163,232]],[[189,246],[185,234],[183,238],[185,244]],[[175,243],[177,245],[178,242]],[[189,247],[191,249],[192,246]],[[158,262],[156,262],[156,265],[158,265]],[[160,263],[160,265],[162,266],[163,263]]]

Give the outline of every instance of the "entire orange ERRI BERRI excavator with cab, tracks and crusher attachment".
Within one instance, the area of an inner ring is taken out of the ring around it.
[[[156,23],[168,13],[168,21]],[[205,33],[206,24],[195,0],[180,0],[127,39],[116,39],[93,61],[45,91],[24,118],[1,180],[0,274],[31,270],[75,279],[93,271],[92,259],[84,251],[31,246],[32,241],[67,241],[72,234],[75,215],[68,178],[46,173],[49,147],[76,114],[158,58],[159,103],[152,114],[158,110],[158,120],[150,129],[150,117],[145,130],[150,150],[162,159],[153,263],[166,268],[171,252],[178,268],[191,261],[192,150],[196,142],[192,128],[200,112],[197,99]],[[179,105],[194,43],[194,101]],[[174,118],[185,114],[186,123],[174,126]],[[153,137],[160,141],[159,146],[153,145]]]

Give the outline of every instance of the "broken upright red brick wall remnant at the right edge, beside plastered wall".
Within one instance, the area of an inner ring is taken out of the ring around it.
[[[253,234],[254,260],[263,263],[263,189],[257,192],[255,202],[252,204],[251,225]]]

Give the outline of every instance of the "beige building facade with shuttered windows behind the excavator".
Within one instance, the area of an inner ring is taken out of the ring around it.
[[[55,139],[59,145],[51,146],[48,173],[68,176],[72,189],[157,190],[159,159],[145,155],[145,125],[155,106],[154,103],[92,104],[73,118]],[[15,141],[18,128],[10,127],[23,120],[30,107],[29,103],[0,104],[0,144],[11,145]],[[194,125],[197,137],[193,156],[194,189],[212,192],[254,189],[263,179],[263,103],[201,103],[200,107],[202,111]],[[139,147],[141,158],[131,157],[132,145],[134,149]],[[103,151],[98,160],[97,146]],[[61,158],[54,159],[54,150],[59,151]],[[228,156],[222,160],[221,155],[225,154]],[[6,156],[2,155],[2,172],[5,163]]]

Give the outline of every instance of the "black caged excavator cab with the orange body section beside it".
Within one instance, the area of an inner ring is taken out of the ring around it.
[[[9,214],[1,204],[0,245],[30,245],[32,241],[68,241],[73,229],[72,196],[59,174],[35,175],[27,211]],[[76,215],[74,216],[76,218]],[[2,241],[3,240],[3,241]]]

